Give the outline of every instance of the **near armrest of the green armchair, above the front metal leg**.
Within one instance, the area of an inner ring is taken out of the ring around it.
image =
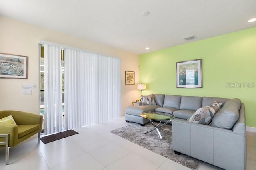
[[[9,146],[12,147],[18,140],[18,125],[0,122],[0,134],[9,134]],[[0,138],[0,142],[4,141],[4,138]]]

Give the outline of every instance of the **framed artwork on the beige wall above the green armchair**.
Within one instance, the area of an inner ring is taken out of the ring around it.
[[[0,53],[0,78],[28,79],[28,57]]]

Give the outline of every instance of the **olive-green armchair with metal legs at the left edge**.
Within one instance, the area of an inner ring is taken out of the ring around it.
[[[42,115],[21,111],[0,111],[0,119],[12,115],[17,125],[0,122],[0,147],[6,148],[5,164],[9,164],[9,148],[38,133],[42,130]]]

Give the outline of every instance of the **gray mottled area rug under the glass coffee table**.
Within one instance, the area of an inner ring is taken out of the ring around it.
[[[152,128],[153,126],[150,123],[147,123],[144,127],[140,126],[138,123],[131,123],[131,125],[118,128],[110,132],[157,154],[160,154],[170,160],[182,164],[192,170],[197,170],[199,168],[201,162],[200,160],[184,154],[176,155],[172,150],[172,125],[164,125],[162,127],[163,129],[171,132],[166,133],[160,131],[162,134],[162,140],[159,138],[156,130],[153,130],[148,134],[144,134]]]

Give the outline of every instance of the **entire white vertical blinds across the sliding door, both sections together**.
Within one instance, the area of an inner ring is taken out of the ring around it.
[[[54,46],[47,45],[45,51],[49,47]],[[44,55],[45,62],[49,61],[49,65],[48,67],[45,65],[45,69],[61,64],[59,61],[50,61],[54,57],[61,59],[58,53],[53,52],[49,55],[49,52],[45,52]],[[68,130],[120,117],[120,59],[69,48],[64,49],[64,55],[64,129]],[[47,134],[61,131],[60,126],[62,125],[60,121],[62,111],[61,114],[59,113],[59,107],[61,109],[62,106],[61,65],[56,66],[56,69],[57,67],[59,71],[45,72],[45,75],[48,75],[45,76],[45,82],[51,76],[60,81],[56,81],[58,88],[48,92],[48,98],[45,98],[45,103],[55,107],[55,110],[52,109],[45,115],[45,123],[47,122],[48,126],[51,125],[51,130],[48,130]],[[51,85],[54,84],[48,83],[48,89],[52,88],[49,87]],[[48,89],[45,88],[45,91]],[[55,97],[58,100],[53,102],[52,98]]]

